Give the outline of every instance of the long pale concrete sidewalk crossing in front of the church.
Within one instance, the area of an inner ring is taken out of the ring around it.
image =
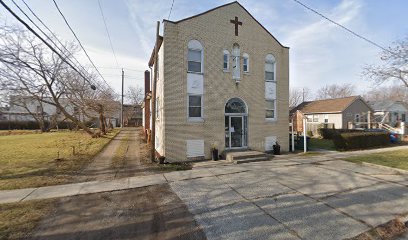
[[[47,199],[47,198],[58,198],[67,197],[80,194],[98,193],[98,192],[110,192],[117,190],[132,189],[138,187],[145,187],[163,183],[169,183],[180,180],[188,180],[203,177],[214,177],[224,174],[233,174],[244,171],[253,171],[258,168],[262,170],[262,166],[277,165],[277,166],[291,166],[296,164],[308,164],[323,162],[329,160],[335,160],[339,158],[357,156],[362,154],[377,153],[377,152],[387,152],[395,151],[400,149],[408,149],[408,146],[399,146],[385,149],[373,149],[365,151],[354,151],[354,152],[337,152],[318,156],[308,156],[300,154],[289,154],[276,156],[274,160],[267,163],[254,163],[254,164],[244,164],[240,166],[232,165],[231,163],[225,161],[218,162],[202,162],[196,163],[193,170],[181,171],[181,172],[171,172],[163,174],[153,174],[148,176],[140,177],[128,177],[115,180],[101,180],[101,181],[90,181],[81,183],[72,183],[65,185],[55,185],[47,187],[38,188],[26,188],[26,189],[16,189],[16,190],[2,190],[0,191],[0,204],[1,203],[11,203],[20,201],[29,201],[37,199]],[[345,163],[351,164],[351,163]],[[253,169],[253,166],[257,166]],[[358,166],[358,165],[355,165]],[[381,169],[381,166],[372,166],[374,169]],[[369,167],[366,168],[370,169]],[[397,174],[406,174],[407,171],[390,169],[392,172]],[[378,171],[387,171],[387,168]],[[372,171],[370,171],[372,172]],[[391,177],[388,177],[391,178]]]

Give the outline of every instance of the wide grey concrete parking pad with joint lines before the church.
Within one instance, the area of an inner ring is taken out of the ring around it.
[[[329,156],[192,171],[166,178],[208,239],[345,239],[408,214],[408,174]]]

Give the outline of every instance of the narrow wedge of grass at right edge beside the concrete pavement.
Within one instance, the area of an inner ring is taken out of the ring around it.
[[[408,150],[373,153],[362,156],[349,157],[343,160],[354,163],[367,162],[387,167],[408,170]]]

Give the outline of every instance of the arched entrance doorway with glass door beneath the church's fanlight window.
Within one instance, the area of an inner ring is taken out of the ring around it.
[[[225,104],[225,148],[248,146],[248,108],[240,98],[231,98]]]

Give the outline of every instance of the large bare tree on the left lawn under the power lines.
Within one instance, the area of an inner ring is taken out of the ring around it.
[[[83,119],[62,103],[65,98],[80,98],[77,95],[82,92],[78,86],[82,85],[84,89],[83,86],[87,85],[87,89],[90,89],[90,79],[95,81],[88,71],[81,71],[87,79],[80,77],[67,63],[72,60],[76,46],[67,44],[64,49],[68,51],[55,54],[31,33],[18,27],[1,25],[0,86],[9,93],[30,96],[36,101],[55,106],[65,118],[94,135],[95,132],[86,126]]]

